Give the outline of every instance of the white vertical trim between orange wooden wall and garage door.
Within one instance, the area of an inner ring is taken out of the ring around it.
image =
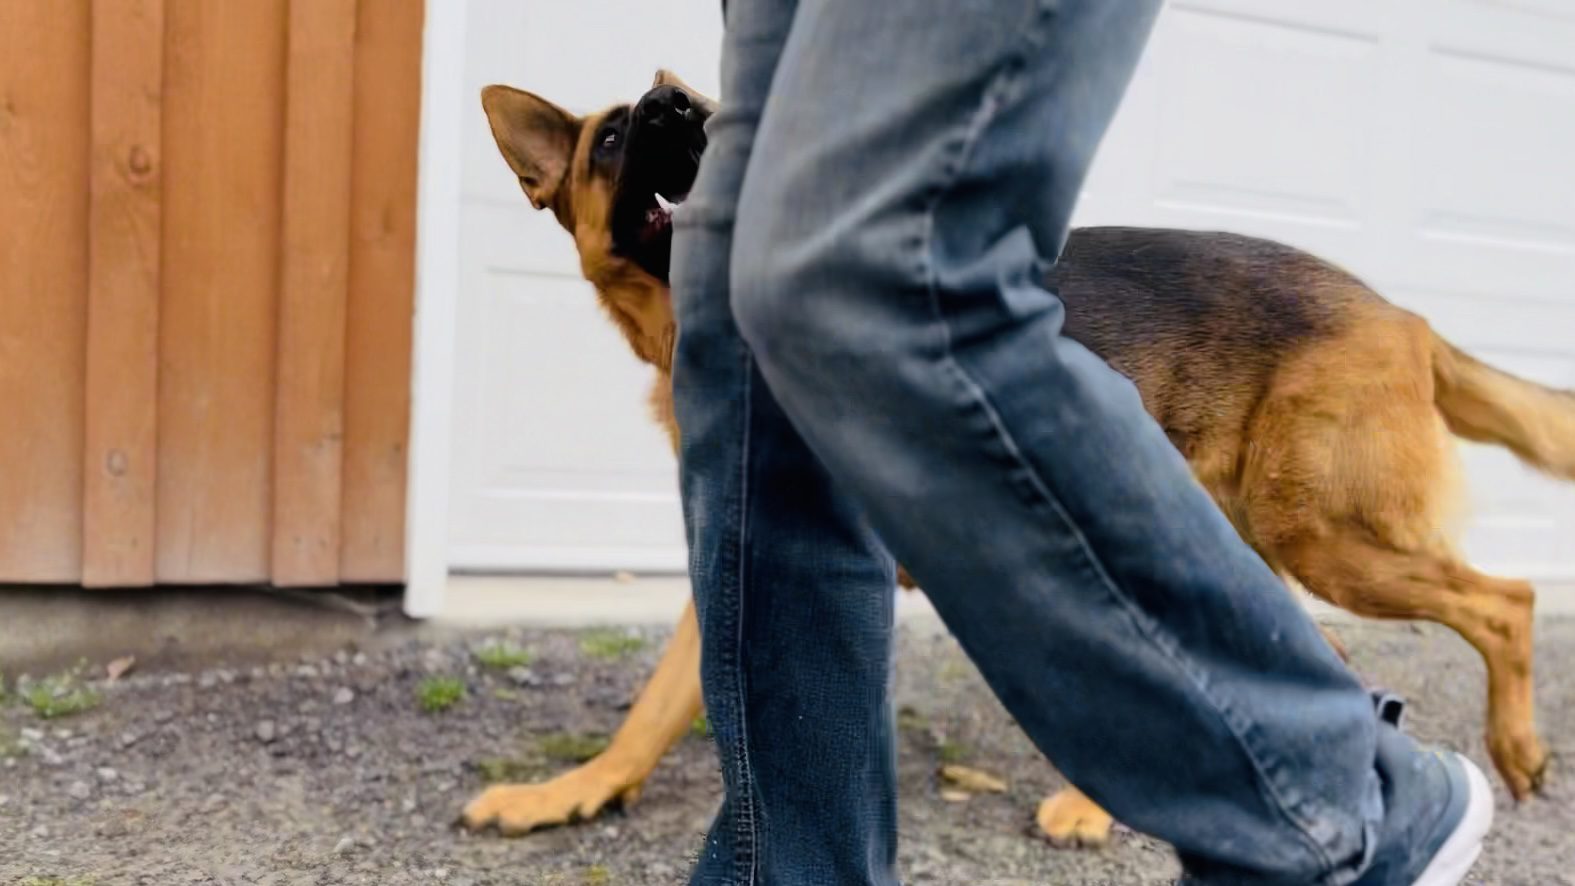
[[[465,107],[465,9],[428,2],[421,60],[416,184],[416,315],[411,354],[405,614],[443,611],[449,582],[449,400],[460,290],[460,170]]]

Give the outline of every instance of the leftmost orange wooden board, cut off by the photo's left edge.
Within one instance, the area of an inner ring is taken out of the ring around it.
[[[0,3],[0,581],[82,563],[88,0]]]

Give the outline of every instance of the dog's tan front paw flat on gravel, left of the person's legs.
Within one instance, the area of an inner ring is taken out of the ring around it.
[[[581,766],[548,782],[493,785],[465,806],[458,823],[469,831],[498,828],[499,834],[517,837],[584,821],[610,806],[628,806],[638,798],[639,784]]]

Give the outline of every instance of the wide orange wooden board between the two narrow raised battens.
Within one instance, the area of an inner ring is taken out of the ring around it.
[[[265,581],[285,0],[167,0],[156,578]]]

